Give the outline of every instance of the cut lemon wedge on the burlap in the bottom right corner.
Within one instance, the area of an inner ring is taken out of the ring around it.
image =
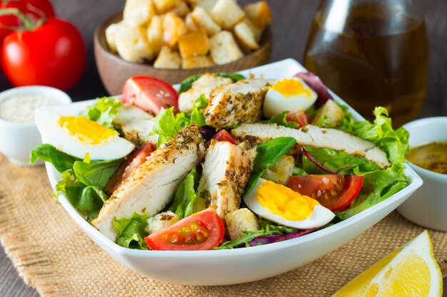
[[[441,297],[441,269],[427,231],[378,261],[332,297]]]

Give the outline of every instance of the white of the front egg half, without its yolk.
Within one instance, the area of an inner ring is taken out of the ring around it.
[[[261,203],[258,202],[258,199],[256,199],[256,192],[258,192],[258,188],[261,187],[263,182],[266,182],[266,179],[260,178],[258,182],[256,182],[253,189],[251,189],[251,192],[243,198],[243,202],[245,202],[247,207],[259,217],[263,217],[268,221],[296,229],[318,228],[328,224],[328,222],[331,222],[331,220],[335,217],[333,212],[326,207],[323,207],[321,204],[316,205],[316,207],[313,208],[311,215],[301,221],[291,221],[284,219],[277,214],[272,214],[269,209],[263,207]]]

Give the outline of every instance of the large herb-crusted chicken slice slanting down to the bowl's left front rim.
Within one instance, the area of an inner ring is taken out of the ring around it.
[[[118,231],[113,224],[114,217],[131,217],[134,212],[149,212],[153,216],[160,212],[171,202],[186,174],[203,157],[204,145],[199,125],[185,127],[132,172],[91,223],[115,241]]]

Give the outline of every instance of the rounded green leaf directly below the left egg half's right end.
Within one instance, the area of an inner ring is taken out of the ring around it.
[[[73,165],[73,171],[79,182],[87,186],[98,186],[105,189],[110,177],[122,162],[122,159],[91,163],[76,161]]]

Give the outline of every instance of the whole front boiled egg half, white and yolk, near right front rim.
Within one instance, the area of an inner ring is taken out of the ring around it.
[[[324,226],[335,217],[315,199],[266,179],[259,179],[243,201],[259,217],[296,229]]]

